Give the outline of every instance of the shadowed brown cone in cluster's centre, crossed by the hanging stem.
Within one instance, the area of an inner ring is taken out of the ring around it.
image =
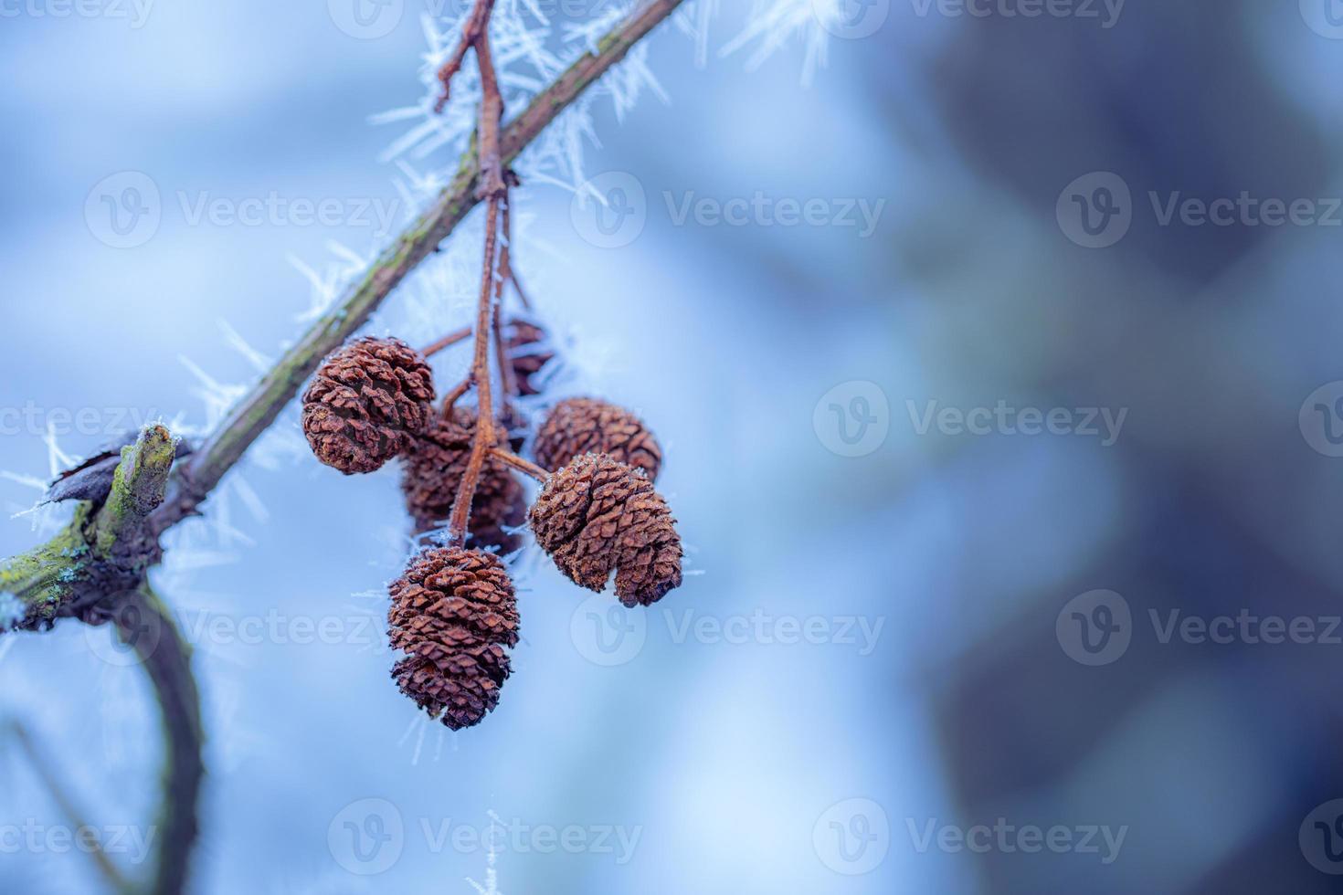
[[[475,437],[475,411],[465,407],[453,408],[453,419],[434,419],[428,431],[415,439],[406,455],[402,472],[402,491],[406,492],[406,507],[415,519],[415,533],[436,529],[453,513],[457,488],[466,474],[466,463],[471,456],[471,439]],[[508,435],[498,432],[498,445],[508,444]],[[494,459],[485,460],[479,482],[475,484],[475,499],[471,501],[471,537],[467,546],[497,546],[504,553],[516,550],[520,539],[509,534],[504,526],[518,527],[526,521],[526,499],[522,486],[513,472]]]

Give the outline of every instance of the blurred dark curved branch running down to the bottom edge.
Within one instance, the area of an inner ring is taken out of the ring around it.
[[[172,620],[168,607],[145,582],[126,596],[114,621],[117,633],[141,657],[158,696],[167,742],[164,797],[158,809],[158,849],[154,895],[176,895],[185,888],[191,852],[196,843],[204,730],[200,692],[191,670],[191,647]]]

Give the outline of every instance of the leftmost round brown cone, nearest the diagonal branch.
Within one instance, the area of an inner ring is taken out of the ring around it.
[[[333,352],[304,394],[304,435],[317,459],[345,475],[372,472],[424,431],[434,376],[395,338],[360,338]]]

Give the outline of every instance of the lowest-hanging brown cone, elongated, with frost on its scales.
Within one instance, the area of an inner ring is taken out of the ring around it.
[[[392,582],[388,640],[406,652],[392,678],[453,730],[478,725],[500,700],[517,645],[517,598],[498,557],[436,547]]]

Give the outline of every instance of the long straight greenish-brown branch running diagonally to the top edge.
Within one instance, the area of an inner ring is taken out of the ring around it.
[[[500,134],[502,162],[510,164],[555,121],[579,95],[624,59],[654,27],[670,16],[685,0],[653,0],[624,21],[616,24],[598,43],[598,51],[584,54],[543,90]],[[196,515],[200,503],[219,484],[243,452],[261,437],[298,393],[304,381],[317,369],[322,357],[357,331],[387,299],[396,286],[428,258],[481,201],[477,196],[479,169],[469,152],[457,177],[439,195],[431,208],[419,216],[387,251],[373,262],[367,274],[352,283],[332,310],[285,353],[252,390],[230,412],[220,427],[191,459],[179,464],[168,501],[154,514],[154,529],[163,531],[184,518]]]

